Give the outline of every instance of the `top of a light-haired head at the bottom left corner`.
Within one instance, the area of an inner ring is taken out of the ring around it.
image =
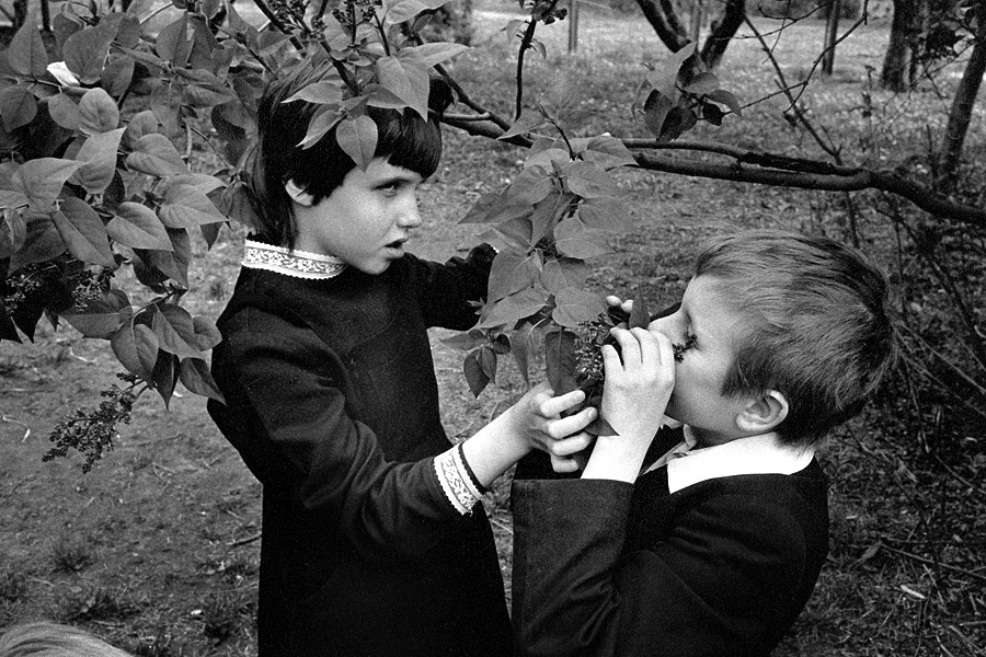
[[[0,631],[0,657],[133,657],[83,630],[35,622]]]

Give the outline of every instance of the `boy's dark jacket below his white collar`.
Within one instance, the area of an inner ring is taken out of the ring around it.
[[[681,438],[658,433],[655,458]],[[817,461],[670,494],[666,468],[525,480],[548,476],[531,457],[512,491],[521,655],[766,656],[804,609],[828,552]]]

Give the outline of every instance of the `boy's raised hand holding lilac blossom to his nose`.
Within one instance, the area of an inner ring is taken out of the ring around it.
[[[665,335],[645,328],[614,328],[612,336],[620,353],[603,347],[603,417],[621,438],[649,445],[674,390],[674,347]]]

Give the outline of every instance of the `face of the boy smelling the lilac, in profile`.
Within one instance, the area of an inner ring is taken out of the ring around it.
[[[721,392],[736,357],[733,338],[742,320],[716,283],[710,276],[692,278],[677,312],[649,326],[675,344],[695,336],[693,346],[675,362],[675,388],[665,414],[692,427],[703,447],[740,438],[735,419],[744,406],[742,399]]]

